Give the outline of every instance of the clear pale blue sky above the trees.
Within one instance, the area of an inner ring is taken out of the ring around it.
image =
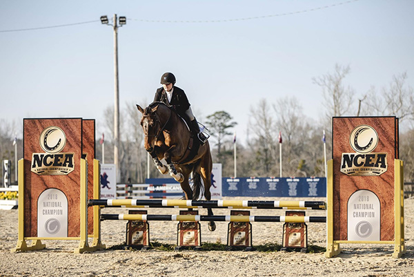
[[[0,120],[16,122],[18,137],[32,117],[93,118],[101,133],[114,105],[114,37],[99,18],[117,14],[127,18],[118,32],[121,109],[150,104],[172,72],[197,120],[228,112],[243,144],[261,99],[295,97],[319,120],[313,78],[335,64],[350,66],[344,84],[355,97],[404,72],[414,86],[413,10],[409,0],[0,0]],[[72,23],[82,24],[44,28]]]

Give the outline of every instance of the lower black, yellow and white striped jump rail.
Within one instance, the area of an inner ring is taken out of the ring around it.
[[[154,221],[226,221],[226,222],[326,222],[326,216],[188,216],[101,214],[101,220],[154,220]]]

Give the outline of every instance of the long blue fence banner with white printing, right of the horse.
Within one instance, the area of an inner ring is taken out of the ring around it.
[[[326,197],[326,178],[222,178],[223,196]]]

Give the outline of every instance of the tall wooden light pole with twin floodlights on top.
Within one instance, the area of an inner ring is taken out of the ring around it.
[[[117,169],[117,182],[121,180],[121,172],[119,171],[119,83],[118,83],[118,28],[126,24],[126,17],[119,17],[119,25],[117,15],[114,15],[112,23],[108,22],[106,15],[101,16],[101,23],[112,26],[114,29],[114,77],[115,77],[115,108],[114,108],[114,163]]]

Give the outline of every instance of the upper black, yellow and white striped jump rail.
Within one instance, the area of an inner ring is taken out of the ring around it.
[[[323,201],[250,201],[250,200],[139,200],[139,199],[91,199],[89,206],[103,207],[180,207],[180,208],[230,208],[230,209],[320,209]]]

